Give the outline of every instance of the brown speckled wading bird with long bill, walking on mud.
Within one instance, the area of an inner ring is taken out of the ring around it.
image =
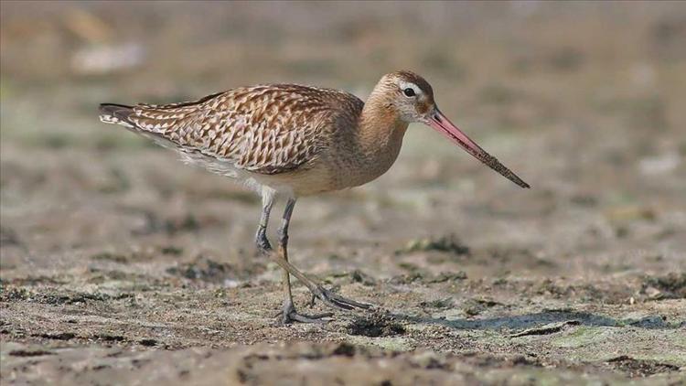
[[[221,91],[194,102],[102,103],[103,123],[115,123],[173,149],[190,165],[231,177],[262,198],[255,232],[259,252],[282,269],[279,321],[316,323],[332,313],[295,308],[290,275],[315,300],[339,310],[372,305],[338,295],[288,261],[288,226],[298,198],[359,187],[384,174],[398,157],[410,123],[424,123],[521,188],[529,184],[445,117],[420,75],[399,70],[381,77],[366,102],[347,91],[300,84],[260,84]],[[267,238],[273,203],[286,205],[278,247]]]

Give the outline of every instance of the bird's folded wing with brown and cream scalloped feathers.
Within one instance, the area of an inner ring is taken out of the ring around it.
[[[323,145],[318,134],[336,124],[342,110],[356,117],[362,104],[341,91],[263,85],[220,92],[197,102],[139,104],[126,121],[135,131],[161,137],[184,151],[243,170],[278,174],[314,162]]]

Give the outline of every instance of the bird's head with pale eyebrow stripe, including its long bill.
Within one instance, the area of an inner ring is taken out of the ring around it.
[[[434,89],[421,76],[407,70],[391,72],[381,78],[374,93],[383,95],[383,107],[391,109],[402,122],[424,123],[432,127],[521,188],[530,188],[529,184],[469,139],[438,110],[434,101]]]

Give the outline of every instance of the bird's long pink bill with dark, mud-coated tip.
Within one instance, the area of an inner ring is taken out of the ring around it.
[[[500,173],[503,177],[508,178],[510,181],[519,185],[521,188],[531,188],[529,184],[522,181],[520,177],[512,173],[509,168],[500,164],[500,161],[493,156],[489,155],[486,150],[482,149],[477,143],[469,139],[466,134],[462,133],[460,129],[457,128],[455,124],[450,122],[445,115],[441,113],[437,108],[434,114],[431,116],[428,122],[429,126],[433,127],[436,131],[447,136],[456,145],[459,145],[466,150],[470,155],[474,155],[479,161],[486,164],[491,169]]]

